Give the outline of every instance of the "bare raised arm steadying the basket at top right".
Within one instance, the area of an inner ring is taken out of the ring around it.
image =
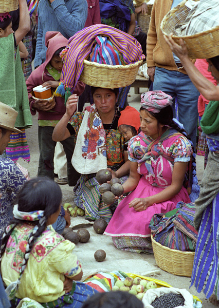
[[[188,50],[184,41],[180,38],[177,44],[172,34],[165,35],[165,40],[170,46],[171,50],[179,57],[180,63],[184,66],[192,83],[198,91],[209,101],[219,101],[219,87],[210,82],[199,70],[194,66],[188,56]]]

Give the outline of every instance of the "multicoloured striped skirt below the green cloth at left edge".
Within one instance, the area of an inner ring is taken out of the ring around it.
[[[22,132],[12,132],[10,136],[10,142],[6,147],[7,158],[12,159],[15,163],[20,157],[30,161],[30,151],[27,144],[26,132],[24,128],[20,128]]]

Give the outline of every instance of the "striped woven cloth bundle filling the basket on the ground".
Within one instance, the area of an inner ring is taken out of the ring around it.
[[[178,202],[165,215],[155,214],[149,228],[156,242],[182,252],[194,252],[197,231],[194,228],[195,204]]]

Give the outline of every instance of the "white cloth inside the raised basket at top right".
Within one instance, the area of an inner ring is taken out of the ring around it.
[[[175,31],[178,35],[193,35],[219,25],[217,0],[200,0],[196,3],[189,0],[186,6],[191,8],[191,11],[184,23],[176,25]]]

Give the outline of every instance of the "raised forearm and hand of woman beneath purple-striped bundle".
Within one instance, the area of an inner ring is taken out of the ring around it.
[[[56,127],[53,130],[52,133],[52,140],[53,141],[62,141],[70,137],[70,132],[67,129],[67,124],[70,118],[72,117],[72,114],[77,109],[77,102],[78,102],[78,96],[76,94],[70,95],[66,102],[66,111],[63,115],[62,119],[57,123]]]

